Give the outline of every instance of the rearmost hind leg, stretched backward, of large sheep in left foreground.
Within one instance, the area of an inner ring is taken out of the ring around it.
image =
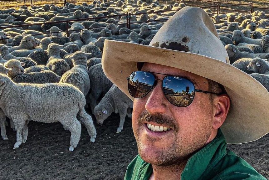
[[[90,142],[95,142],[96,129],[91,116],[86,113],[85,109],[82,109],[78,113],[77,118],[86,127],[88,134],[90,135]]]

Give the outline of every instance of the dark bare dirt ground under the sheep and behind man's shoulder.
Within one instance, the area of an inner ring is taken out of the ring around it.
[[[16,133],[7,127],[9,140],[0,140],[0,180],[122,180],[137,149],[131,118],[126,117],[120,133],[116,133],[118,125],[116,114],[102,126],[96,125],[95,143],[90,143],[82,126],[81,139],[74,152],[68,151],[70,132],[60,123],[31,121],[26,143],[15,150]],[[269,179],[268,134],[255,142],[228,147]]]

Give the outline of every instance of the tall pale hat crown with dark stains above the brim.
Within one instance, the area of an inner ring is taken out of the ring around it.
[[[175,13],[159,29],[149,46],[200,54],[229,63],[212,20],[198,7],[184,7]]]

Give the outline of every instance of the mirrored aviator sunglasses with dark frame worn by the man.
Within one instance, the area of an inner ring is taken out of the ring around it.
[[[130,74],[127,80],[130,95],[134,98],[142,98],[153,89],[153,87],[157,84],[157,80],[160,79],[156,79],[154,74],[149,71],[134,71]],[[222,94],[195,89],[192,81],[180,76],[167,75],[160,81],[162,81],[162,89],[165,98],[171,104],[178,107],[186,107],[190,105],[193,101],[195,92],[216,95]]]

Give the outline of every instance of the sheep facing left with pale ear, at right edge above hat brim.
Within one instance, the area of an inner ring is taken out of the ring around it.
[[[254,58],[247,65],[247,70],[253,71],[254,73],[269,75],[269,64],[264,59]]]

